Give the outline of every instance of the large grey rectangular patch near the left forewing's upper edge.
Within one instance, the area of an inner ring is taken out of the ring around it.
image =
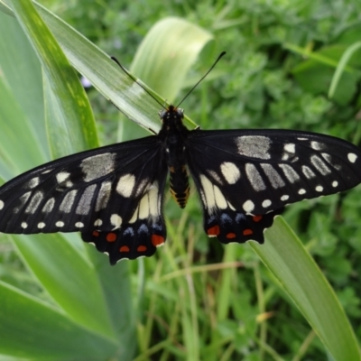
[[[81,164],[81,171],[84,172],[84,181],[96,180],[114,171],[116,153],[104,153],[93,155],[84,159]]]

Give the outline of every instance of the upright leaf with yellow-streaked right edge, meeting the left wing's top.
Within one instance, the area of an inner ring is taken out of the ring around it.
[[[79,152],[88,147],[97,147],[95,122],[88,97],[74,69],[42,22],[32,1],[14,0],[13,5],[16,18],[42,63],[44,81],[49,87],[45,92],[48,100],[45,104],[53,105],[47,106],[47,114],[51,116],[47,124],[52,153],[59,157],[67,155],[69,150]]]

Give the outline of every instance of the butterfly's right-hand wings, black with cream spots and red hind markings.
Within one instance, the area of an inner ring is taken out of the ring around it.
[[[208,236],[254,239],[289,203],[361,182],[361,152],[327,135],[282,130],[191,132],[188,164]]]

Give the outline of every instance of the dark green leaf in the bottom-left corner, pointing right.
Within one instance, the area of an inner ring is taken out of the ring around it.
[[[0,353],[46,360],[106,359],[116,342],[50,305],[0,282]],[[22,316],[22,317],[20,317]]]

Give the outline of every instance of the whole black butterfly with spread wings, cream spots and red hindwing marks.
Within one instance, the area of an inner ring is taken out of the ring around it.
[[[184,208],[188,170],[208,236],[224,244],[264,242],[264,229],[289,203],[361,182],[352,143],[290,130],[188,130],[183,111],[160,113],[159,134],[46,163],[0,188],[0,231],[81,232],[85,242],[122,258],[153,255],[166,238],[165,181]]]

